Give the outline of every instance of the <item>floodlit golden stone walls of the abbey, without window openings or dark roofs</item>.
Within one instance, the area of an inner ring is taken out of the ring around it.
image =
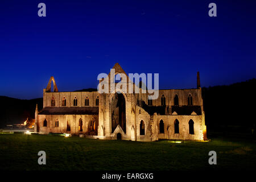
[[[114,65],[115,74],[125,73],[119,64]],[[126,73],[125,73],[126,74]],[[127,79],[127,88],[129,88],[130,80]],[[116,83],[109,82],[109,89],[115,88]],[[49,90],[49,88],[48,88]],[[60,115],[43,115],[36,114],[38,117],[39,133],[72,133],[93,135],[89,132],[90,121],[97,120],[97,136],[93,138],[100,139],[117,139],[117,134],[121,133],[123,140],[137,140],[137,141],[154,141],[158,139],[183,139],[183,140],[203,140],[206,139],[206,126],[204,119],[203,99],[201,97],[201,88],[196,89],[166,89],[159,90],[159,97],[152,100],[152,106],[148,108],[161,107],[160,111],[150,112],[145,109],[147,105],[147,93],[123,93],[121,90],[116,90],[125,98],[125,115],[126,115],[126,131],[117,126],[112,132],[112,113],[113,113],[113,96],[115,93],[98,93],[98,92],[46,92],[44,89],[43,100],[44,107],[51,107],[52,97],[55,98],[55,107],[62,107],[61,103],[63,97],[66,99],[65,107],[74,107],[73,99],[77,98],[77,106],[86,107],[85,98],[89,98],[89,106],[96,106],[96,98],[99,97],[99,106],[97,114],[60,114]],[[192,97],[192,106],[195,106],[196,111],[186,111],[179,113],[172,110],[174,106],[175,96],[179,98],[179,105],[176,108],[191,108],[188,106],[188,97]],[[164,97],[166,105],[161,106],[161,98]],[[144,104],[144,105],[143,105]],[[115,111],[117,114],[117,111]],[[82,119],[82,132],[79,131],[79,119]],[[47,119],[49,125],[43,127],[43,121]],[[59,127],[55,127],[56,119],[59,120]],[[164,123],[164,133],[160,133],[160,120]],[[175,119],[179,121],[179,134],[174,133]],[[193,121],[194,134],[189,134],[189,120]],[[70,122],[71,131],[67,131],[67,121]],[[140,123],[144,122],[144,135],[140,133]],[[36,129],[35,129],[36,131]]]

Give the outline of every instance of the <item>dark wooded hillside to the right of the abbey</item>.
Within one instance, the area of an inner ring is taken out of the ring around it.
[[[255,128],[255,88],[255,78],[202,88],[207,130],[249,133],[251,127]]]

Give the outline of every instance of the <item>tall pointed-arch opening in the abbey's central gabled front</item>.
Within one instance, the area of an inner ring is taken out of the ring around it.
[[[111,114],[112,114],[112,133],[115,128],[121,126],[124,133],[126,133],[126,108],[125,97],[122,93],[115,93],[112,97]]]

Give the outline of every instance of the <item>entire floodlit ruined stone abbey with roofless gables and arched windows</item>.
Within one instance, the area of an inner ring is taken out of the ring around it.
[[[115,74],[126,75],[118,63],[113,68]],[[129,81],[127,76],[127,84]],[[109,82],[109,88],[115,84]],[[148,100],[148,93],[139,90],[58,92],[51,77],[43,90],[43,109],[36,107],[35,132],[135,141],[207,139],[199,73],[196,89],[159,90],[156,100]]]

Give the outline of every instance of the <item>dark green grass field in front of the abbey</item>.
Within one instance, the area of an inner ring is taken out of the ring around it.
[[[38,152],[46,151],[46,165]],[[209,165],[208,152],[217,152]],[[93,140],[55,135],[0,134],[1,170],[254,170],[255,141],[213,138],[171,143]]]

